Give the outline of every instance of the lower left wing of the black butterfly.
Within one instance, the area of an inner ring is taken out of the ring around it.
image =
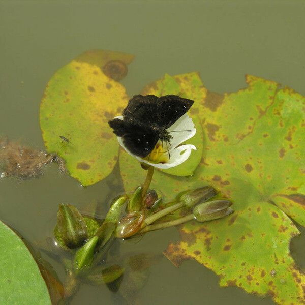
[[[146,157],[158,142],[158,132],[129,121],[114,118],[109,121],[113,132],[123,139],[125,147],[135,156]]]

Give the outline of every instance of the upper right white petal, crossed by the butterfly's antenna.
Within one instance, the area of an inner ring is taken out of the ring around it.
[[[175,130],[191,130],[191,131],[175,131]],[[182,115],[175,123],[167,129],[171,132],[170,135],[173,137],[170,140],[170,144],[173,148],[177,147],[179,144],[185,142],[186,140],[192,138],[196,134],[196,128],[192,119],[188,114]]]

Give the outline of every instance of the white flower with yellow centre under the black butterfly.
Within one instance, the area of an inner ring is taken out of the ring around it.
[[[123,116],[117,116],[123,120]],[[188,114],[182,115],[175,123],[167,129],[172,136],[170,144],[159,141],[153,151],[144,159],[132,154],[123,144],[123,139],[117,137],[119,144],[127,151],[128,154],[137,158],[140,162],[149,164],[157,168],[170,168],[185,162],[191,155],[192,149],[196,147],[191,144],[181,145],[181,143],[192,138],[196,133],[195,125]]]

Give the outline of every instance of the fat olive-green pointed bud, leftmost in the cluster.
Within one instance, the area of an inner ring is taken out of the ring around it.
[[[86,222],[76,207],[59,204],[54,235],[61,245],[70,249],[80,247],[88,238]]]

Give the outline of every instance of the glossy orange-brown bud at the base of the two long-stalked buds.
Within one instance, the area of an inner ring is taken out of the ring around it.
[[[116,228],[116,237],[127,238],[135,235],[141,229],[144,218],[143,213],[137,213],[135,216],[122,218]]]

